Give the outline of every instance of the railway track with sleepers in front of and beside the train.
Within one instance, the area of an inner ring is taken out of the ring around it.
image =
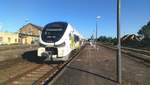
[[[60,72],[78,53],[79,50],[73,51],[70,59],[66,62],[38,64],[32,69],[6,80],[1,85],[44,85]]]

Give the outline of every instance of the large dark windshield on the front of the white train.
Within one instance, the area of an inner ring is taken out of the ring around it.
[[[55,22],[46,25],[42,31],[42,40],[47,43],[54,43],[61,39],[67,27],[67,23]]]

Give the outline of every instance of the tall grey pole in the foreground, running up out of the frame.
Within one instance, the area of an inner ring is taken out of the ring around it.
[[[121,60],[121,42],[120,42],[120,8],[121,0],[117,0],[117,81],[122,83],[122,60]]]

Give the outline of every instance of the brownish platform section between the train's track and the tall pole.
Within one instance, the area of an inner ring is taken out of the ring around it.
[[[85,46],[49,85],[117,85],[116,55],[97,48]]]

